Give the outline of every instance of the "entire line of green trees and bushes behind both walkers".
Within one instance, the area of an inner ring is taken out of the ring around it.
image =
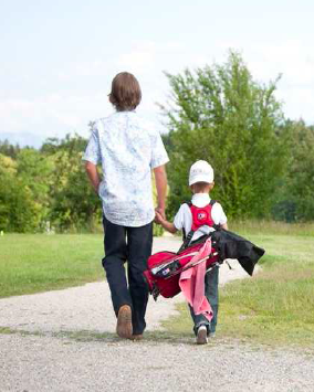
[[[253,80],[242,57],[178,75],[167,74],[171,97],[161,106],[171,219],[190,199],[191,163],[216,172],[212,198],[234,220],[314,220],[314,126],[284,117],[279,78]],[[90,186],[81,136],[49,138],[40,149],[0,141],[0,230],[94,231],[102,205]]]

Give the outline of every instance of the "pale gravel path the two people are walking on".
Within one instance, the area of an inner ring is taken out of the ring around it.
[[[154,252],[178,246],[156,239]],[[232,267],[221,267],[221,284],[248,276],[238,262]],[[181,300],[150,300],[147,330],[160,330]],[[0,326],[15,331],[0,335],[0,392],[314,391],[314,359],[305,353],[221,339],[199,347],[192,336],[119,340],[105,282],[1,299]]]

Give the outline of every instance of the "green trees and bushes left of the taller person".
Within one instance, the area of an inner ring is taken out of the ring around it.
[[[87,140],[50,138],[38,150],[0,142],[0,230],[93,231],[102,206],[82,163]]]

